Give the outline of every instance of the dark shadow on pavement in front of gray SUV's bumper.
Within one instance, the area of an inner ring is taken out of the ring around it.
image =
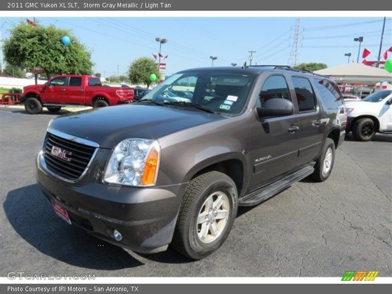
[[[143,265],[123,248],[103,242],[62,221],[36,184],[10,191],[3,208],[12,227],[26,242],[59,261],[96,270]],[[42,261],[37,257],[39,262]]]

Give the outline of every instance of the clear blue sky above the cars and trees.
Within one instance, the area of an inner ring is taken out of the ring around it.
[[[27,17],[33,19],[33,17]],[[2,39],[9,29],[25,18],[0,18]],[[253,64],[290,63],[294,43],[296,18],[224,18],[224,17],[40,17],[41,25],[54,24],[68,28],[92,52],[95,73],[102,76],[125,74],[130,63],[142,56],[152,57],[159,51],[156,37],[168,39],[162,45],[162,55],[168,75],[180,70],[211,66],[210,56],[217,56],[214,66],[231,63],[249,64],[249,50]],[[363,36],[364,48],[378,55],[383,18],[300,18],[297,63],[322,62],[335,66],[347,62],[344,53],[351,52],[356,62],[358,42],[353,38]],[[392,18],[387,18],[382,53],[392,46]],[[392,52],[389,52],[392,58]],[[360,56],[359,62],[363,58]]]

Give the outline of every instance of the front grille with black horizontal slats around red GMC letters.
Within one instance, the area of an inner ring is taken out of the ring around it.
[[[65,150],[67,160],[52,154],[53,146]],[[77,180],[86,170],[96,148],[47,133],[44,142],[45,163],[50,172],[68,180]]]

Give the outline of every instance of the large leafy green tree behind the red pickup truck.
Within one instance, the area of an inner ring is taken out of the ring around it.
[[[70,37],[71,43],[68,46],[61,42],[63,36]],[[70,30],[56,28],[54,25],[32,26],[20,22],[11,29],[3,51],[8,64],[28,70],[41,68],[48,78],[54,74],[92,73],[91,52]]]

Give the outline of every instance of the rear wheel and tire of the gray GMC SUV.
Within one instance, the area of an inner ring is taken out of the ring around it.
[[[316,161],[315,171],[309,177],[316,182],[325,181],[332,172],[334,162],[335,142],[331,138],[327,138]]]

